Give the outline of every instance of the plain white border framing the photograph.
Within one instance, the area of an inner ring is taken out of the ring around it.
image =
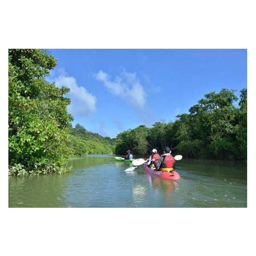
[[[248,208],[8,209],[1,177],[1,251],[7,255],[252,255],[255,227],[255,13],[250,1],[17,1],[1,3],[3,124],[8,48],[247,48]],[[7,168],[7,127],[1,160]],[[163,218],[164,217],[164,218]]]

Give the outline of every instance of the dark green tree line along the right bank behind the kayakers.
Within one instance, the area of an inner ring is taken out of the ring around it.
[[[152,148],[169,146],[174,154],[189,158],[247,159],[247,89],[223,89],[206,94],[192,106],[189,114],[177,116],[175,122],[157,122],[152,128],[139,126],[118,134],[116,154],[145,155]]]

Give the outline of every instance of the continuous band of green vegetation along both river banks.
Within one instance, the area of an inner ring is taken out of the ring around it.
[[[157,122],[103,137],[77,124],[67,113],[66,87],[45,81],[57,60],[38,49],[9,50],[9,174],[68,170],[71,155],[145,155],[163,146],[189,158],[247,159],[247,89],[209,93],[175,122]]]

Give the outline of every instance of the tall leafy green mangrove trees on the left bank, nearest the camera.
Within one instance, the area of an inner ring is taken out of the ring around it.
[[[59,172],[66,167],[68,88],[44,79],[57,60],[38,49],[9,50],[9,173]]]

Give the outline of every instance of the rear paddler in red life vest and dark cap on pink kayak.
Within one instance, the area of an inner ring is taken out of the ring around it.
[[[155,159],[153,159],[153,163],[156,166],[157,170],[168,171],[168,172],[172,172],[174,170],[173,167],[175,164],[175,159],[170,153],[171,153],[170,148],[164,147],[163,155],[161,155],[160,159],[157,162],[155,161]]]

